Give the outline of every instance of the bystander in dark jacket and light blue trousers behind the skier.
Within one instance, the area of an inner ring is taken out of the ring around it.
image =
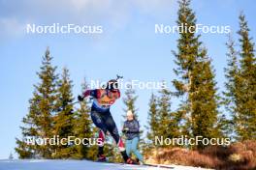
[[[138,144],[140,141],[140,124],[135,119],[131,110],[127,111],[127,120],[124,122],[122,132],[126,136],[125,148],[127,156],[131,156],[131,153],[137,157],[137,161],[144,163],[144,158],[138,150]]]

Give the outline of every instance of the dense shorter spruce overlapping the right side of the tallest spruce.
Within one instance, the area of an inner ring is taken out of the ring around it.
[[[216,95],[214,73],[210,66],[207,51],[203,50],[202,57],[196,62],[191,76],[191,104],[192,134],[204,138],[221,137],[218,125],[219,113],[217,104],[219,97]],[[205,147],[202,144],[199,148]]]

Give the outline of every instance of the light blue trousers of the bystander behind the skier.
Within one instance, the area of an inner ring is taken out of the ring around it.
[[[135,137],[132,140],[126,140],[125,142],[125,148],[127,156],[130,156],[131,153],[133,153],[137,158],[139,158],[140,161],[144,160],[144,157],[141,155],[141,153],[138,150],[138,143],[139,143],[139,137]]]

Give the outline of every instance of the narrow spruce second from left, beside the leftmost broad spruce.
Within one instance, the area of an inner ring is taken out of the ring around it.
[[[58,82],[56,106],[58,112],[53,116],[52,134],[59,139],[73,136],[74,105],[72,95],[72,81],[69,71],[64,68]],[[54,145],[54,158],[68,158],[72,155],[72,146],[67,144]]]

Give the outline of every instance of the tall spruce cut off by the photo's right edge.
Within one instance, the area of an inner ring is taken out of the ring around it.
[[[234,114],[236,131],[241,140],[256,138],[256,58],[254,43],[244,14],[240,14],[240,74],[238,108]]]

